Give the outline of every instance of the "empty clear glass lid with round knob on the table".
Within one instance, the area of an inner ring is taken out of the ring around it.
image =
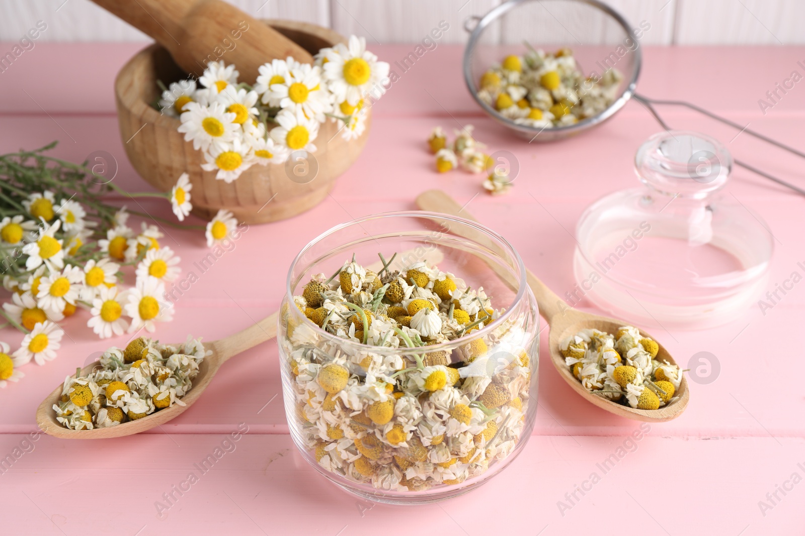
[[[774,238],[734,194],[733,160],[704,134],[667,131],[635,157],[645,185],[592,203],[576,225],[576,288],[617,317],[663,328],[732,321],[765,288]]]

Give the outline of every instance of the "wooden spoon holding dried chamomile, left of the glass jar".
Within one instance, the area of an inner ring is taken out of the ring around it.
[[[427,260],[431,264],[439,264],[444,258],[444,254],[438,248],[427,249],[411,249],[399,256],[400,259],[406,259],[407,262],[415,263],[419,260]],[[369,264],[366,268],[377,272],[382,268],[382,264],[374,263]],[[61,391],[64,390],[64,383],[53,390],[47,398],[39,404],[36,410],[36,423],[43,432],[62,439],[72,440],[99,440],[107,437],[121,437],[138,434],[145,432],[150,428],[159,426],[162,423],[180,415],[188,407],[192,406],[194,402],[201,396],[213,380],[213,376],[217,373],[218,369],[224,362],[250,348],[254,348],[262,342],[277,336],[277,317],[279,313],[273,313],[269,317],[263,318],[257,324],[243,329],[242,331],[229,335],[229,337],[222,338],[218,341],[204,342],[204,350],[213,350],[212,355],[208,355],[199,365],[199,373],[193,379],[193,387],[184,395],[181,400],[184,406],[175,404],[171,407],[155,411],[151,415],[142,417],[142,419],[126,421],[125,423],[118,424],[109,428],[93,428],[92,430],[71,430],[65,428],[62,423],[56,420],[56,411],[53,411],[53,404],[59,403],[61,399]],[[85,366],[81,370],[81,375],[89,374],[94,368],[100,367],[99,361]]]

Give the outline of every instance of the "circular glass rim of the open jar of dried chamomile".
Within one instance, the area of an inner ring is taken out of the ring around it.
[[[522,258],[520,254],[514,249],[508,240],[503,238],[497,232],[489,229],[489,227],[485,227],[481,225],[481,223],[477,223],[471,219],[464,219],[460,216],[452,216],[447,214],[442,214],[440,212],[431,212],[431,211],[393,211],[393,212],[382,212],[379,214],[374,215],[367,215],[362,216],[361,218],[356,218],[349,220],[349,222],[339,223],[334,227],[330,227],[327,231],[324,231],[320,235],[316,236],[316,238],[312,239],[308,242],[299,253],[294,257],[294,260],[291,262],[291,268],[288,268],[288,275],[285,281],[285,297],[288,301],[288,304],[294,303],[294,294],[293,289],[291,288],[291,278],[293,276],[294,268],[296,265],[299,264],[299,260],[301,260],[302,256],[308,252],[308,250],[316,245],[316,243],[320,243],[322,240],[326,239],[328,236],[336,233],[337,231],[341,231],[346,229],[347,227],[352,227],[353,225],[360,225],[361,223],[368,222],[369,220],[373,219],[380,219],[380,218],[400,218],[400,217],[408,217],[408,218],[420,218],[420,219],[428,219],[431,221],[434,220],[441,220],[441,221],[448,221],[454,223],[460,223],[461,225],[472,227],[475,231],[479,231],[484,235],[489,236],[489,238],[495,239],[501,242],[506,248],[507,253],[512,257],[514,260],[517,269],[518,269],[518,289],[517,295],[514,297],[514,300],[511,302],[509,309],[506,309],[501,316],[495,318],[493,321],[489,322],[489,324],[485,325],[481,329],[473,329],[473,331],[468,331],[464,333],[459,338],[455,338],[452,341],[447,342],[440,342],[439,344],[429,345],[427,346],[427,352],[436,352],[439,350],[446,350],[452,349],[454,346],[463,346],[467,344],[467,342],[471,342],[478,338],[485,337],[489,333],[492,333],[498,326],[502,325],[503,321],[505,321],[508,317],[513,314],[515,307],[522,302],[523,297],[526,296],[526,288],[528,288],[528,282],[526,278],[526,266],[522,262]],[[367,233],[368,234],[368,233]],[[371,236],[371,235],[369,235]],[[460,235],[456,235],[460,236]],[[473,240],[474,242],[475,240]],[[407,346],[398,346],[398,347],[390,347],[390,346],[372,346],[368,344],[363,344],[362,342],[353,342],[350,339],[338,337],[337,335],[333,335],[324,329],[321,329],[319,325],[316,325],[315,322],[311,321],[308,317],[305,317],[305,320],[310,322],[312,328],[315,330],[316,334],[320,337],[323,336],[324,338],[329,339],[337,339],[338,344],[343,344],[356,350],[361,350],[365,352],[373,352],[375,354],[419,354],[421,352],[416,351],[419,348],[424,348],[424,346],[415,346],[415,347],[407,347]],[[310,327],[310,326],[308,326]]]

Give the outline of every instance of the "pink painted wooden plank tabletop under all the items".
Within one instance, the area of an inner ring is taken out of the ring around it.
[[[10,47],[0,44],[3,51]],[[130,190],[146,189],[126,160],[112,95],[114,73],[138,48],[39,43],[20,57],[0,74],[0,151],[54,139],[60,140],[54,153],[73,161],[105,150],[120,166],[115,180]],[[389,62],[410,48],[374,47]],[[194,333],[211,340],[271,313],[295,253],[333,224],[412,209],[415,195],[433,187],[470,201],[481,191],[481,178],[432,171],[424,140],[436,125],[452,130],[472,123],[491,149],[517,156],[521,172],[513,194],[480,194],[469,210],[510,239],[559,295],[572,289],[576,219],[601,195],[634,186],[634,151],[658,125],[632,102],[591,133],[528,145],[473,104],[460,77],[461,53],[447,46],[428,52],[394,84],[375,108],[365,152],[315,211],[250,227],[204,273],[193,264],[208,252],[203,236],[168,229],[165,243],[182,257],[183,276],[196,272],[198,281],[177,302],[175,321],[160,325],[159,338],[172,342]],[[798,60],[805,60],[805,49],[649,48],[640,89],[657,98],[693,100],[805,149],[803,83],[765,116],[758,107],[775,83],[803,72]],[[671,125],[711,133],[747,162],[805,186],[802,161],[691,113],[663,113]],[[792,272],[803,274],[805,199],[741,169],[729,190],[774,234],[770,288]],[[164,205],[146,207],[169,213]],[[534,436],[510,470],[458,500],[408,508],[359,501],[297,455],[283,413],[274,342],[227,363],[195,406],[154,433],[102,442],[31,439],[43,396],[107,346],[78,314],[66,322],[72,342],[64,339],[55,362],[24,367],[26,378],[0,391],[0,456],[19,454],[13,464],[0,465],[0,534],[336,536],[397,534],[403,527],[473,536],[803,534],[805,395],[797,350],[803,313],[805,284],[799,284],[765,315],[754,305],[718,329],[662,333],[679,362],[708,351],[720,374],[711,383],[691,381],[687,411],[670,423],[644,424],[640,440],[630,439],[638,423],[584,402],[543,357]],[[21,337],[6,329],[0,339],[14,346]],[[194,464],[238,430],[247,432],[201,474]],[[177,492],[192,472],[198,481]]]

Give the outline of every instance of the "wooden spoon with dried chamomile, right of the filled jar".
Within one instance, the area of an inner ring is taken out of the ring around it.
[[[428,190],[423,194],[419,194],[419,197],[416,198],[416,204],[424,211],[442,212],[444,214],[477,221],[472,215],[469,215],[466,210],[456,203],[453,198],[441,190]],[[452,224],[450,227],[450,232],[456,235],[466,236],[470,239],[476,240],[478,243],[484,243],[489,248],[497,249],[497,246],[491,243],[489,239],[485,239],[483,235],[480,235],[471,227],[460,227]],[[679,414],[682,413],[682,411],[684,411],[685,407],[687,407],[688,399],[690,399],[690,391],[687,389],[687,378],[685,378],[684,375],[682,377],[682,383],[679,384],[679,390],[674,394],[675,400],[657,410],[634,409],[630,406],[624,406],[620,403],[612,402],[611,400],[605,399],[600,395],[592,395],[590,391],[584,389],[579,380],[573,376],[570,367],[565,365],[564,357],[562,357],[562,354],[559,353],[559,342],[570,335],[578,333],[581,329],[594,328],[605,331],[606,333],[616,333],[617,329],[621,327],[621,325],[629,325],[629,322],[616,320],[614,318],[600,317],[595,314],[584,313],[583,311],[568,307],[568,305],[565,304],[565,302],[555,293],[551,292],[551,289],[547,288],[547,286],[545,286],[545,284],[543,284],[543,282],[540,281],[537,276],[527,269],[526,274],[531,292],[534,293],[534,296],[537,299],[539,313],[545,318],[548,325],[551,326],[551,331],[548,338],[548,348],[551,351],[551,361],[556,367],[556,370],[559,371],[559,375],[564,378],[564,380],[570,387],[572,387],[574,391],[583,396],[585,399],[588,399],[589,402],[595,404],[596,406],[627,419],[643,420],[650,423],[663,422],[666,420],[675,419],[679,416]],[[640,333],[643,337],[654,339],[654,341],[657,342],[659,346],[659,352],[657,354],[658,360],[667,361],[672,365],[676,364],[674,358],[671,357],[671,354],[669,354],[665,347],[660,344],[657,338],[652,337],[649,333],[646,333],[642,329],[640,330]]]

